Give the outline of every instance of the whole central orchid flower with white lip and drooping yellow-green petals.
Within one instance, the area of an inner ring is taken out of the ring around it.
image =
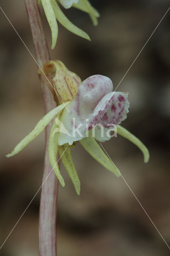
[[[112,81],[102,75],[90,76],[83,82],[59,61],[49,61],[43,72],[53,84],[53,94],[59,106],[47,113],[7,157],[20,152],[34,140],[45,126],[55,118],[49,136],[49,160],[62,186],[65,185],[57,164],[57,152],[75,186],[80,193],[80,181],[71,158],[71,147],[77,142],[105,168],[120,176],[121,173],[99,146],[118,133],[133,142],[149,160],[147,148],[119,124],[127,118],[129,102],[127,92],[113,92]],[[41,74],[41,72],[40,72]]]

